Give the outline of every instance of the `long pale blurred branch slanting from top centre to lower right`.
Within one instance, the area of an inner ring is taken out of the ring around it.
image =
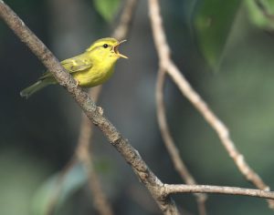
[[[223,146],[227,149],[230,158],[237,164],[240,172],[251,181],[258,189],[269,190],[269,186],[264,183],[258,174],[248,166],[244,156],[238,151],[234,142],[229,137],[229,132],[224,123],[216,117],[213,111],[206,105],[205,101],[195,92],[180,70],[174,65],[170,58],[170,49],[167,44],[163,31],[163,21],[160,15],[160,7],[158,0],[150,0],[150,16],[153,26],[154,43],[160,58],[160,67],[167,72],[173,79],[175,85],[179,87],[184,97],[186,97],[194,107],[205,118],[207,123],[216,130],[216,134],[220,138]],[[269,207],[274,207],[274,201],[269,200]]]

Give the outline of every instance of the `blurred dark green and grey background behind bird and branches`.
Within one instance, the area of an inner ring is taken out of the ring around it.
[[[6,0],[62,60],[76,56],[117,26],[122,0]],[[274,3],[271,0],[161,1],[174,62],[228,128],[248,164],[274,188]],[[155,114],[158,58],[140,0],[116,72],[98,104],[129,138],[153,172],[182,183],[163,146]],[[73,155],[81,110],[62,87],[29,99],[24,87],[45,71],[28,48],[0,22],[0,214],[46,214],[54,181]],[[168,122],[199,184],[253,188],[239,173],[216,133],[168,79]],[[115,214],[160,214],[132,169],[98,129],[92,141],[95,167]],[[97,214],[81,167],[68,173],[54,214]],[[193,195],[177,205],[197,214]],[[273,214],[265,200],[210,195],[208,214]]]

